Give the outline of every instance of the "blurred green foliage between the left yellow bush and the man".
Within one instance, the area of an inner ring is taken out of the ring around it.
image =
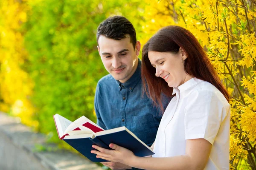
[[[32,102],[38,130],[53,132],[52,115],[75,120],[93,114],[97,81],[108,74],[97,51],[96,30],[111,15],[139,16],[138,0],[35,0],[23,26],[29,57],[25,69],[35,82]],[[121,8],[124,7],[124,8]],[[133,22],[133,20],[131,20]],[[140,30],[140,20],[133,22]]]

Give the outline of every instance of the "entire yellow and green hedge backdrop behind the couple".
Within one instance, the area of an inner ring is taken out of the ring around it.
[[[2,0],[0,111],[55,141],[52,114],[95,119],[94,90],[106,74],[96,28],[116,14],[131,20],[142,44],[163,26],[195,35],[232,96],[230,169],[256,170],[255,0]]]

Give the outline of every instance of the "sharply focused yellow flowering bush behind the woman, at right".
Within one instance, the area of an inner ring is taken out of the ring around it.
[[[146,0],[143,30],[178,25],[199,40],[232,96],[230,169],[256,170],[256,1]]]

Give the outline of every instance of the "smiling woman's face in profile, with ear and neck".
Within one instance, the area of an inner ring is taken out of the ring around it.
[[[169,87],[178,87],[190,79],[184,70],[186,54],[180,49],[177,54],[149,51],[148,59],[156,68],[156,76],[163,78]],[[183,59],[183,64],[181,62]]]

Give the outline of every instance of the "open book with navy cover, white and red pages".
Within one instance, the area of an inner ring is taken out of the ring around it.
[[[126,127],[117,127],[104,130],[85,116],[71,122],[58,114],[53,115],[55,126],[60,139],[70,144],[73,148],[94,162],[103,162],[104,159],[96,158],[92,145],[111,149],[109,144],[114,143],[131,150],[134,155],[144,157],[153,155],[153,150],[142,142]]]

